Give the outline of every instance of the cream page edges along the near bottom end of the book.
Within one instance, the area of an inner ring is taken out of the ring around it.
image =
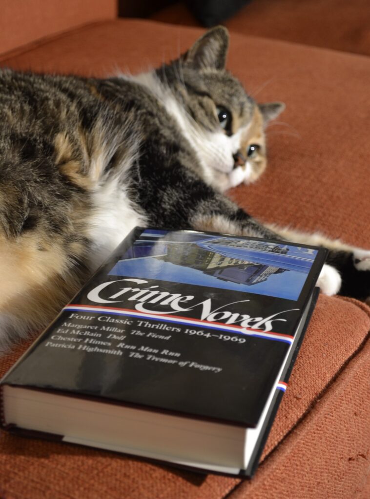
[[[9,385],[4,385],[3,390],[5,421],[25,430],[64,435],[64,440],[93,441],[94,446],[105,449],[124,447],[132,454],[156,454],[159,449],[169,462],[199,457],[204,464],[218,465],[224,459],[228,466],[240,468],[243,463],[246,430],[239,426]],[[102,435],[100,442],[98,435]]]

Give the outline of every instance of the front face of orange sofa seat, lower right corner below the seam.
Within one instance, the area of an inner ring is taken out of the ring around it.
[[[231,499],[368,499],[369,364],[367,342]]]

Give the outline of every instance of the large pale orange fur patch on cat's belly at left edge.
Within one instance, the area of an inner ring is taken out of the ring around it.
[[[77,291],[81,276],[69,272],[70,262],[62,244],[40,232],[15,240],[0,235],[0,314],[12,317],[18,335],[40,324],[46,325]],[[82,246],[69,245],[80,254]],[[42,249],[42,250],[40,250]],[[25,330],[21,330],[21,326]]]

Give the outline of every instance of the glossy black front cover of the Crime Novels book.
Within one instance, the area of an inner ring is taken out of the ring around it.
[[[250,429],[264,414],[266,426],[325,255],[137,228],[1,384]]]

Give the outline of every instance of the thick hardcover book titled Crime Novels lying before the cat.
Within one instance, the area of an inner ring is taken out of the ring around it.
[[[134,229],[1,379],[2,429],[252,476],[326,253]]]

